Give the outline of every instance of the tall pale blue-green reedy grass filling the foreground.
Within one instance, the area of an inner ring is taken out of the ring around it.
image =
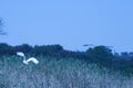
[[[37,57],[24,65],[22,58],[0,58],[0,88],[132,88],[133,78],[96,64],[74,58]]]

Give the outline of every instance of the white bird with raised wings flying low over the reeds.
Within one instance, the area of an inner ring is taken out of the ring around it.
[[[23,63],[27,64],[27,65],[29,64],[29,62],[33,62],[34,64],[39,64],[39,61],[34,57],[30,57],[30,58],[25,59],[25,55],[22,52],[17,52],[17,55],[22,56],[23,57]]]

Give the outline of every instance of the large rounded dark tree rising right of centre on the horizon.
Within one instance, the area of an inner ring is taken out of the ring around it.
[[[104,65],[110,65],[113,58],[112,50],[102,45],[89,48],[86,54],[92,61]]]

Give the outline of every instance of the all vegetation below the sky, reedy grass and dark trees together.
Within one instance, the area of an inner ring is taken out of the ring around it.
[[[24,65],[16,52],[40,63]],[[112,53],[106,46],[85,52],[61,45],[0,43],[0,88],[132,88],[133,53]]]

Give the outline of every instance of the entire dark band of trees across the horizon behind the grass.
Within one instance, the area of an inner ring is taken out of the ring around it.
[[[95,46],[88,48],[86,52],[66,51],[59,44],[55,45],[35,45],[28,44],[11,46],[6,43],[0,43],[0,56],[12,56],[17,52],[23,52],[25,55],[32,56],[50,56],[62,58],[82,59],[88,63],[95,63],[111,69],[119,69],[127,74],[133,74],[133,53],[112,53],[112,50],[106,46]]]

